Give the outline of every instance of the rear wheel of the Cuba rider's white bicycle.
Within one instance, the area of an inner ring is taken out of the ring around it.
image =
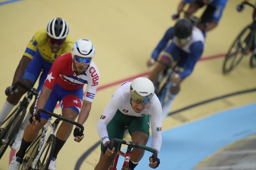
[[[31,143],[31,145],[27,149],[24,159],[21,163],[20,170],[30,170],[31,169],[32,162],[35,158],[35,155],[37,155],[37,152],[38,152],[37,150],[38,150],[41,135],[42,134],[39,133],[38,137],[34,140],[34,142]]]

